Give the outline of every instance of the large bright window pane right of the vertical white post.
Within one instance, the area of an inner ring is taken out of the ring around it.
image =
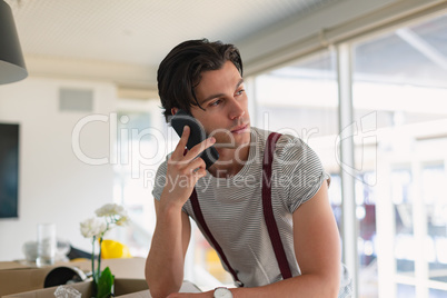
[[[377,297],[374,287],[386,297],[447,297],[446,32],[440,17],[352,48],[355,118],[377,120],[377,163],[361,173],[374,183],[356,192],[359,252],[371,254],[360,261],[360,297]],[[368,216],[377,230],[364,226]]]

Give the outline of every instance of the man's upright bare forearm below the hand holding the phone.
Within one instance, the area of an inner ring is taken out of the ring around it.
[[[183,265],[181,209],[160,206],[146,262],[146,279],[153,297],[180,289]]]

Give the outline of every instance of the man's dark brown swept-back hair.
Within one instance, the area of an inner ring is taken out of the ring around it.
[[[242,60],[234,44],[200,39],[175,47],[161,61],[157,72],[158,95],[166,121],[172,115],[171,108],[190,113],[191,106],[200,107],[193,88],[199,85],[201,73],[221,69],[227,61],[231,61],[242,76]]]

